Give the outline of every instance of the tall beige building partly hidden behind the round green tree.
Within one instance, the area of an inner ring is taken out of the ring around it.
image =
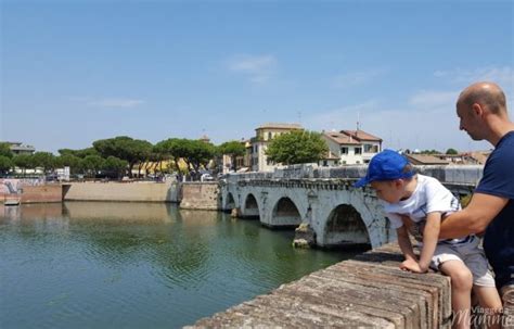
[[[250,139],[252,145],[252,170],[253,172],[270,172],[278,164],[268,161],[266,149],[268,143],[275,136],[280,136],[292,130],[304,130],[298,124],[274,124],[268,123],[255,129],[255,137]]]

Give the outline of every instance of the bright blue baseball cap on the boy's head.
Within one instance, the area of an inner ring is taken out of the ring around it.
[[[411,178],[414,172],[403,173],[409,161],[400,153],[393,150],[384,150],[371,159],[365,177],[359,179],[354,186],[363,187],[375,180],[394,180],[399,178]]]

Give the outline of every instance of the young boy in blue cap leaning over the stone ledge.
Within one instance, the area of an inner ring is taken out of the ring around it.
[[[439,269],[451,278],[452,307],[457,328],[470,328],[471,290],[486,311],[501,311],[502,304],[488,270],[479,239],[438,240],[440,222],[461,208],[459,200],[437,179],[415,174],[406,157],[384,150],[371,160],[365,177],[356,187],[370,184],[385,201],[385,212],[396,228],[406,261],[400,268],[425,273]],[[420,258],[414,255],[409,235],[422,242]]]

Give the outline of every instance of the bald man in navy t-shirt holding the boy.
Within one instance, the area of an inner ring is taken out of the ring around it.
[[[503,326],[514,328],[514,123],[505,94],[492,83],[464,89],[457,102],[460,129],[494,145],[470,204],[441,223],[439,239],[486,231],[484,250],[503,301]]]

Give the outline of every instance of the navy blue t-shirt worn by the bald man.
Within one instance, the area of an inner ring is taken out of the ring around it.
[[[497,287],[514,284],[514,131],[503,136],[489,155],[475,192],[509,199],[486,229],[484,250]]]

